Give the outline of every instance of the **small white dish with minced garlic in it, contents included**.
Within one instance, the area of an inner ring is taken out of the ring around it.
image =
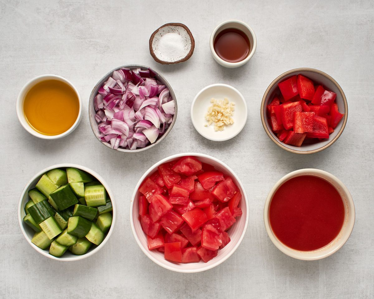
[[[226,141],[240,133],[247,121],[243,95],[227,84],[212,84],[200,90],[192,101],[191,120],[200,135],[212,141]]]

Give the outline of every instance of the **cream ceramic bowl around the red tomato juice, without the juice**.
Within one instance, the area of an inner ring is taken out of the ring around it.
[[[327,244],[325,247],[322,247],[317,250],[311,250],[311,251],[295,250],[283,244],[281,241],[278,240],[278,238],[273,233],[272,228],[270,226],[270,221],[269,221],[269,206],[273,198],[273,195],[275,194],[277,189],[289,179],[295,178],[297,176],[303,176],[303,175],[317,176],[319,178],[326,180],[332,186],[334,186],[335,189],[337,189],[337,191],[339,192],[341,198],[343,199],[344,209],[345,209],[345,218],[344,218],[343,227],[341,228],[339,234],[335,237],[335,239],[332,240],[331,243]],[[332,255],[334,252],[337,252],[344,245],[344,243],[346,243],[346,241],[348,240],[352,232],[353,225],[355,224],[355,205],[353,204],[352,196],[350,195],[347,187],[337,177],[333,176],[331,173],[328,173],[324,170],[313,169],[313,168],[299,169],[299,170],[295,170],[293,172],[288,173],[288,175],[283,176],[283,178],[281,178],[270,190],[269,195],[267,195],[265,207],[264,207],[264,223],[265,223],[267,234],[270,237],[270,240],[272,240],[274,245],[279,250],[281,250],[281,252],[295,259],[301,259],[304,261],[314,261],[318,259],[327,258],[328,256]]]

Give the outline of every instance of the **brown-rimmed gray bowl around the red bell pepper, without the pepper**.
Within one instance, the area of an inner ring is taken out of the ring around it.
[[[322,84],[328,90],[336,93],[335,102],[338,105],[338,109],[340,113],[344,113],[344,118],[338,123],[337,127],[334,129],[334,132],[330,134],[328,139],[323,139],[321,141],[316,141],[310,144],[303,144],[301,147],[296,147],[294,145],[285,144],[278,139],[275,133],[272,131],[271,125],[267,118],[267,111],[266,106],[270,104],[273,100],[275,94],[278,92],[278,83],[286,80],[289,77],[294,75],[301,74],[304,75],[313,82],[317,84]],[[275,80],[270,83],[269,87],[267,87],[266,92],[262,98],[261,102],[261,122],[264,126],[264,130],[266,134],[269,136],[272,141],[278,145],[280,148],[285,149],[286,151],[293,152],[295,154],[314,154],[315,152],[319,152],[328,148],[332,145],[337,139],[340,137],[341,133],[343,133],[344,127],[347,123],[348,118],[348,104],[346,96],[344,95],[343,89],[341,89],[340,85],[335,81],[330,75],[316,70],[314,68],[295,68],[293,70],[287,71],[282,75],[279,75]]]

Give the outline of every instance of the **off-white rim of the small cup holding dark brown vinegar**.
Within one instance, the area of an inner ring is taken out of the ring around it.
[[[214,36],[215,36],[215,34],[217,33],[218,30],[220,30],[220,28],[223,25],[226,25],[228,23],[237,23],[237,24],[243,25],[244,27],[246,27],[248,29],[248,31],[251,33],[251,36],[253,38],[253,45],[252,45],[251,52],[249,52],[248,56],[245,59],[243,59],[242,61],[229,62],[229,61],[223,60],[220,56],[217,55],[217,53],[214,50],[213,43],[214,43]],[[230,20],[227,20],[227,21],[224,21],[224,22],[218,24],[214,28],[214,30],[212,31],[212,34],[211,34],[211,36],[209,38],[209,47],[211,49],[211,53],[212,53],[215,61],[217,61],[223,67],[228,67],[228,68],[241,67],[242,65],[245,65],[249,61],[249,59],[252,58],[252,56],[254,55],[254,53],[256,52],[256,48],[257,48],[257,37],[256,37],[256,34],[255,34],[254,30],[248,24],[246,24],[245,22],[240,21],[240,20],[230,19]]]

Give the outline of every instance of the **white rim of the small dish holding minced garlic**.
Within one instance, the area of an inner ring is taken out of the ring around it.
[[[211,137],[209,135],[206,135],[205,133],[203,133],[199,126],[195,123],[195,118],[194,118],[194,114],[193,114],[193,107],[196,103],[196,100],[197,98],[200,96],[200,94],[202,92],[204,92],[205,90],[207,89],[210,89],[212,87],[216,87],[216,86],[222,86],[222,87],[226,87],[226,88],[229,88],[229,89],[232,89],[234,92],[237,93],[237,95],[239,95],[239,98],[242,100],[242,102],[244,103],[244,107],[245,107],[245,119],[243,121],[243,125],[239,128],[239,130],[237,130],[237,132],[234,134],[234,135],[230,135],[229,137],[225,138],[225,139],[218,139],[218,138],[214,138],[214,137]],[[227,140],[230,140],[232,138],[234,138],[236,135],[238,135],[240,132],[242,132],[243,128],[245,127],[245,124],[247,123],[247,118],[248,118],[248,107],[247,107],[247,103],[245,101],[245,98],[244,96],[242,95],[242,93],[237,90],[235,87],[229,85],[229,84],[224,84],[224,83],[215,83],[215,84],[210,84],[208,86],[205,86],[203,89],[201,89],[197,94],[196,96],[194,97],[192,103],[191,103],[191,109],[190,109],[190,117],[191,117],[191,121],[192,121],[192,124],[195,128],[195,130],[203,137],[205,137],[206,139],[209,139],[211,141],[227,141]]]

